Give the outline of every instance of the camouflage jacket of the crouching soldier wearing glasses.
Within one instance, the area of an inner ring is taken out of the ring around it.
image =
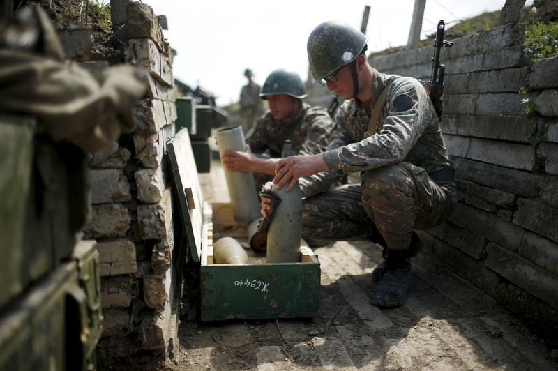
[[[374,70],[373,99],[393,82],[378,119],[378,130],[365,137],[370,117],[355,98],[335,115],[335,126],[324,160],[329,173],[303,179],[303,195],[315,195],[342,174],[365,172],[399,162],[411,162],[427,172],[451,166],[439,121],[424,86],[412,77],[384,75]]]

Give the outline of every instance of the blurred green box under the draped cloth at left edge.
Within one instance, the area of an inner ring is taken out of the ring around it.
[[[0,115],[0,307],[70,257],[91,209],[84,153],[34,127]]]

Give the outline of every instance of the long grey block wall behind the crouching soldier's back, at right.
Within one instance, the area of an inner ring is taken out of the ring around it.
[[[524,25],[512,23],[452,40],[442,52],[442,130],[460,196],[447,222],[421,234],[416,271],[450,268],[532,325],[557,331],[558,56],[529,63],[524,38]],[[432,53],[369,61],[427,80]]]

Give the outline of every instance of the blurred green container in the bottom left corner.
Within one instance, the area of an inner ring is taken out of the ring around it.
[[[28,288],[0,315],[0,370],[96,370],[103,331],[96,241]]]

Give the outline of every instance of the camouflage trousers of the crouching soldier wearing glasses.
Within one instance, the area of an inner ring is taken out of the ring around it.
[[[361,174],[361,184],[342,185],[303,200],[302,236],[312,241],[370,239],[407,250],[413,229],[428,229],[451,213],[455,185],[440,186],[409,162]]]

